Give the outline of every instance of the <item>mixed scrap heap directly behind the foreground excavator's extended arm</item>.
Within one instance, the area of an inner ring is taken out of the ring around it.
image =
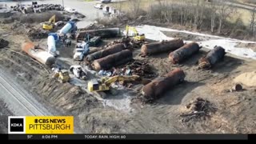
[[[115,75],[138,75],[143,78],[155,78],[157,74],[151,69],[148,62],[140,62],[138,60],[129,62],[126,66],[112,68],[112,70],[100,70],[99,75],[115,76]]]

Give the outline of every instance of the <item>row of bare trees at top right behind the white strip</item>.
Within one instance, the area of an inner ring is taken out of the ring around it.
[[[161,23],[190,26],[195,30],[207,30],[214,34],[223,34],[225,30],[246,30],[252,36],[255,33],[256,10],[251,11],[250,26],[246,26],[238,8],[225,0],[156,0],[146,11],[141,9],[141,0],[129,0],[129,3],[130,13],[135,18],[144,14],[146,18]]]

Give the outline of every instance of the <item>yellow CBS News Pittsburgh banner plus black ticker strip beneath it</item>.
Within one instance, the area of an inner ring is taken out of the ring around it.
[[[248,134],[74,134],[73,116],[9,116],[9,140],[248,140]]]

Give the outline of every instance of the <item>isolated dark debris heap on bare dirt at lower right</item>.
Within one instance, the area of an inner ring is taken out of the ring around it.
[[[203,120],[210,117],[210,114],[214,114],[217,110],[216,107],[209,101],[203,98],[197,98],[194,102],[190,102],[186,109],[190,112],[187,114],[181,114],[182,122],[190,122],[191,120]]]

